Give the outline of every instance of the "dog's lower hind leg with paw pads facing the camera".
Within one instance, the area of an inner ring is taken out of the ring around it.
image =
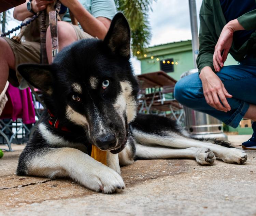
[[[171,149],[165,147],[152,147],[136,144],[136,157],[141,159],[171,159],[191,158],[199,164],[210,165],[215,161],[214,153],[208,148],[190,147],[186,149]]]

